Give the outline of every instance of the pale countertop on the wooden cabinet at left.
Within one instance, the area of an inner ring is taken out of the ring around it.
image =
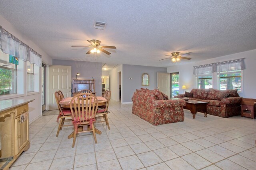
[[[13,107],[22,106],[23,104],[34,101],[34,99],[8,99],[0,101],[0,111],[5,111]]]

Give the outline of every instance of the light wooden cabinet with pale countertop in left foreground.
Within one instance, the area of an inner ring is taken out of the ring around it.
[[[33,100],[8,101],[0,101],[0,169],[4,170],[29,149],[28,102]]]

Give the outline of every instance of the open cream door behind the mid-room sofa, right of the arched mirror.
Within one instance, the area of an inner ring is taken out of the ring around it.
[[[170,81],[171,81],[170,73],[167,72],[158,72],[157,73],[157,88],[162,93],[168,95],[168,98],[170,98]]]

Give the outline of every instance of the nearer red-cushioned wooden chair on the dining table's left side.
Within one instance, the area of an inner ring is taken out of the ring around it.
[[[59,132],[62,130],[63,126],[72,126],[72,124],[64,125],[64,122],[71,121],[72,119],[66,119],[68,117],[71,118],[70,108],[60,107],[60,101],[61,101],[61,98],[62,98],[61,94],[59,92],[55,92],[54,95],[55,95],[56,104],[57,104],[58,110],[59,110],[59,115],[57,117],[57,122],[59,123],[59,127],[58,127],[58,131],[57,131],[57,134],[56,134],[56,137],[58,137]],[[59,122],[59,119],[60,119],[60,122]]]

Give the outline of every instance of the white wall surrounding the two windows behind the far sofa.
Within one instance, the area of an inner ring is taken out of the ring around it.
[[[241,58],[245,58],[244,62],[246,69],[243,70],[243,90],[239,93],[239,95],[244,98],[256,98],[256,78],[254,77],[256,74],[256,49],[232,55],[225,55],[222,57],[208,59],[196,63],[171,66],[167,68],[167,72],[180,72],[180,92],[183,92],[181,89],[182,85],[186,85],[186,88],[188,88],[186,91],[190,92],[190,90],[196,88],[196,77],[193,75],[193,66]]]

